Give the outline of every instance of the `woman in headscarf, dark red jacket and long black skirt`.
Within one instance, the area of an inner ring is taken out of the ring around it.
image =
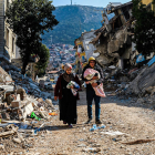
[[[54,100],[56,101],[59,97],[60,121],[63,121],[63,124],[69,124],[72,127],[72,124],[76,124],[78,120],[76,100],[79,100],[79,93],[74,96],[71,89],[66,89],[66,85],[70,81],[74,81],[81,86],[81,82],[78,75],[72,73],[71,64],[66,63],[64,71],[65,73],[61,74],[58,79],[54,89]]]

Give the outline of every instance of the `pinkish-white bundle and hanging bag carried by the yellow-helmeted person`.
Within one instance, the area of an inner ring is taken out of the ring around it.
[[[92,80],[94,76],[96,76],[97,79],[96,80]],[[85,83],[86,84],[92,84],[92,83],[96,83],[97,80],[100,80],[101,75],[97,71],[93,70],[93,69],[86,69],[85,72],[84,72],[84,79],[89,80],[86,81]],[[101,83],[100,85],[93,87],[94,91],[95,91],[95,94],[97,96],[102,96],[102,97],[105,97],[105,93],[104,93],[104,90],[103,90],[103,83]]]

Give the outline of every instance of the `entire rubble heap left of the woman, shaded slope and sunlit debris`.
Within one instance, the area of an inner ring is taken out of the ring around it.
[[[1,68],[2,66],[2,68]],[[12,64],[0,66],[0,153],[27,153],[43,125],[58,115],[53,95]],[[56,103],[55,103],[56,104]]]

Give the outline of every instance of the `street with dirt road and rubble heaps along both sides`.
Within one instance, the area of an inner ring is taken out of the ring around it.
[[[87,121],[87,105],[83,87],[78,102],[78,124],[70,128],[59,121],[59,102],[53,100],[53,89],[43,89],[39,81],[23,76],[14,65],[2,63],[0,153],[154,154],[155,89],[153,79],[149,82],[145,80],[153,74],[154,65],[146,65],[127,74],[111,66],[108,75],[115,79],[105,76],[106,97],[101,100],[102,124],[96,126],[94,120],[89,125],[84,124]],[[52,86],[54,87],[54,83]]]

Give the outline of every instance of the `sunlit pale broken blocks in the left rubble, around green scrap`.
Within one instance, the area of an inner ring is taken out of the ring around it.
[[[43,101],[43,99],[28,96],[23,89],[17,90],[17,94],[0,92],[3,92],[0,103],[0,118],[2,120],[25,121],[27,117],[31,117],[32,112],[39,117],[48,120],[50,118],[49,113],[54,110],[52,100]]]

